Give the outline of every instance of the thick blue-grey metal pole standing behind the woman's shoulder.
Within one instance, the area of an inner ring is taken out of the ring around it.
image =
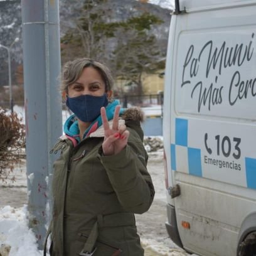
[[[61,136],[58,0],[21,0],[29,225],[43,248],[48,223],[53,156]],[[51,204],[50,204],[51,205]]]

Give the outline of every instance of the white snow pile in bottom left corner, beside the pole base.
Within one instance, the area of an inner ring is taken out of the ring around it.
[[[41,256],[36,238],[28,228],[27,209],[4,206],[0,208],[0,255]]]

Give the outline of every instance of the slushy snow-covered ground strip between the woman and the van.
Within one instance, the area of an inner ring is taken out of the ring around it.
[[[149,154],[147,169],[151,174],[156,195],[149,211],[136,215],[137,231],[145,249],[145,256],[189,255],[176,246],[166,232],[164,224],[166,221],[166,189],[161,154]]]

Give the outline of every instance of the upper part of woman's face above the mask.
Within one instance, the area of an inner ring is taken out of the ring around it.
[[[68,87],[68,97],[78,97],[80,95],[102,96],[105,93],[105,83],[98,70],[93,67],[83,69],[78,80]],[[111,96],[111,91],[107,92],[107,97]]]

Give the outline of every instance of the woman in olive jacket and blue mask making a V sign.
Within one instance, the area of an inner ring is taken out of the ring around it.
[[[53,256],[144,255],[134,213],[149,210],[154,187],[142,144],[141,112],[111,100],[113,79],[98,61],[63,68],[62,91],[74,115],[53,151]],[[48,237],[47,235],[47,237]]]

